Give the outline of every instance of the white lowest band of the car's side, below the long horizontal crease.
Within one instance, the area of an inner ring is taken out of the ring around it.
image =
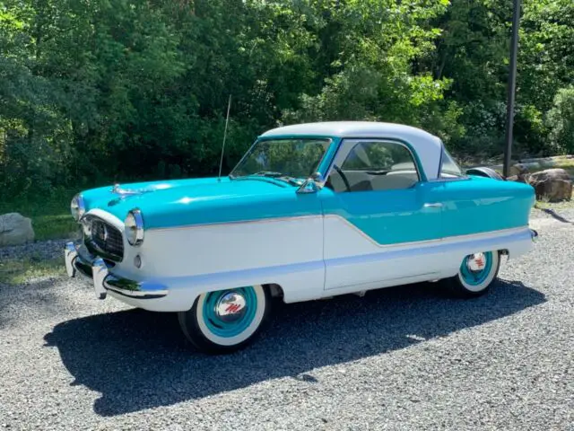
[[[498,234],[473,235],[472,238],[466,239],[461,237],[425,247],[380,251],[378,254],[330,259],[325,262],[317,260],[278,267],[153,280],[167,286],[169,290],[169,295],[158,299],[126,298],[113,292],[110,292],[110,295],[146,310],[178,312],[191,308],[196,297],[207,291],[277,284],[283,289],[284,302],[296,303],[326,296],[453,277],[457,275],[460,263],[468,254],[477,251],[508,251],[510,258],[516,258],[530,251],[532,247],[532,235],[529,229],[521,228]],[[405,267],[413,267],[420,262],[427,265],[427,268],[419,269],[420,274],[404,275],[407,272]],[[434,262],[434,267],[431,267],[431,262]],[[329,289],[319,289],[318,286],[323,286],[326,279],[326,268],[333,279],[337,279],[338,276],[338,280],[343,282],[339,285],[334,284]],[[389,270],[381,275],[378,268],[392,268],[392,271]],[[359,278],[368,279],[367,272],[369,277],[372,277],[370,281],[361,283],[355,281]]]

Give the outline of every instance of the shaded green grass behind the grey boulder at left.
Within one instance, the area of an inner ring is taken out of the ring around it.
[[[70,201],[77,192],[60,191],[51,197],[17,198],[0,202],[0,214],[20,213],[30,217],[36,240],[54,240],[74,236],[78,224],[70,215]]]

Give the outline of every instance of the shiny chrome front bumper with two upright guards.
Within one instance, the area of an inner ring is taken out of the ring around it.
[[[135,299],[154,299],[168,295],[166,286],[129,280],[110,274],[104,259],[93,256],[83,245],[66,242],[64,258],[68,276],[76,277],[80,274],[87,280],[91,280],[98,299],[105,299],[108,292]]]

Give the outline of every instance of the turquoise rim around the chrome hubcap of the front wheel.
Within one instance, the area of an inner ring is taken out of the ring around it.
[[[245,313],[236,321],[224,321],[216,311],[217,305],[222,297],[230,293],[237,293],[245,299]],[[205,295],[203,312],[205,326],[214,335],[224,339],[237,337],[243,331],[247,330],[255,320],[257,313],[257,294],[253,286],[210,292]]]

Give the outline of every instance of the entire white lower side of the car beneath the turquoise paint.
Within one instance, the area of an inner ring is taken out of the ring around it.
[[[166,295],[122,295],[121,286],[108,294],[145,310],[180,312],[189,310],[204,292],[274,284],[281,286],[285,303],[296,303],[452,277],[468,254],[508,251],[516,258],[532,246],[526,226],[381,246],[332,216],[150,231],[145,245],[126,247],[124,261],[109,273],[161,286]],[[141,269],[133,266],[135,253],[143,259]],[[170,277],[152,276],[160,272]]]

